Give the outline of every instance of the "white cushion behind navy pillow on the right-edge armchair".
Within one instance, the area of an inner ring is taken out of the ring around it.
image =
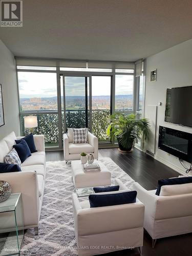
[[[164,185],[161,187],[159,196],[176,196],[192,193],[192,183]]]

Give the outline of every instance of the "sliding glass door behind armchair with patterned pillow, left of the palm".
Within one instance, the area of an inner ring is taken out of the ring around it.
[[[110,142],[106,128],[111,114],[111,81],[111,76],[63,74],[61,105],[64,132],[68,127],[88,127],[99,142]]]

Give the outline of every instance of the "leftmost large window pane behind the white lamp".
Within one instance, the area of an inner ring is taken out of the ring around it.
[[[37,116],[35,134],[44,134],[46,147],[58,147],[58,111],[56,73],[18,72],[20,126],[25,129],[24,117]]]

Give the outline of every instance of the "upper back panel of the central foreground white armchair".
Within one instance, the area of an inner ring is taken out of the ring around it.
[[[142,228],[144,205],[141,202],[79,209],[78,236],[89,236],[124,229]],[[112,225],[113,223],[113,225]]]

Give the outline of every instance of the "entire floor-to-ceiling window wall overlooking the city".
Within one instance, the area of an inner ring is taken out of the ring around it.
[[[38,66],[34,66],[35,62]],[[21,59],[17,62],[17,77],[22,135],[24,117],[36,116],[35,134],[44,134],[49,150],[62,149],[62,133],[68,127],[88,127],[102,146],[113,145],[106,136],[110,115],[115,112],[133,113],[137,98],[134,90],[134,65],[130,63],[92,63],[88,68],[70,61]],[[59,66],[60,65],[60,66]],[[76,66],[76,67],[75,67]],[[79,68],[77,68],[79,67]],[[115,68],[116,67],[116,68]],[[142,82],[138,91],[142,109]],[[137,100],[138,102],[138,100]]]

